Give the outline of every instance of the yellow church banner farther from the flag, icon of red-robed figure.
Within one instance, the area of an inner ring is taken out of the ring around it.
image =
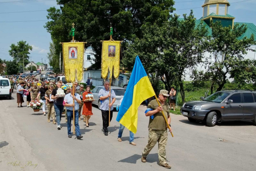
[[[65,79],[67,83],[83,80],[84,43],[62,43]]]

